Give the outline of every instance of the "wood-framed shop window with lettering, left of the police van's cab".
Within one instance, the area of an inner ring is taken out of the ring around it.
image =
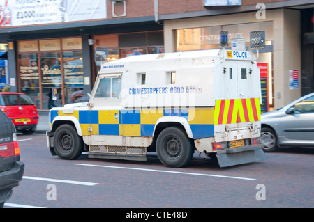
[[[18,41],[17,79],[19,91],[39,110],[74,102],[84,94],[82,38]],[[52,88],[57,88],[57,102]]]

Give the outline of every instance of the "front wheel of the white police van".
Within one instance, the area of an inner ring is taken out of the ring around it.
[[[77,159],[83,150],[82,137],[72,125],[63,124],[54,132],[54,152],[61,159]]]

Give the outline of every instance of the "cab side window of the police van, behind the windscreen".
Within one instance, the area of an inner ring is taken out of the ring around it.
[[[103,78],[96,90],[95,97],[119,98],[121,92],[121,77]]]

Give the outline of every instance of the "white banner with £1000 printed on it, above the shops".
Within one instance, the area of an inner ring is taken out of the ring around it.
[[[107,18],[102,0],[0,0],[0,26],[51,24]]]

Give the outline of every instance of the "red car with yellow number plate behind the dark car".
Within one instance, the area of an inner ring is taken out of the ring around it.
[[[0,93],[0,109],[12,120],[17,132],[32,134],[38,123],[38,112],[24,93]]]

